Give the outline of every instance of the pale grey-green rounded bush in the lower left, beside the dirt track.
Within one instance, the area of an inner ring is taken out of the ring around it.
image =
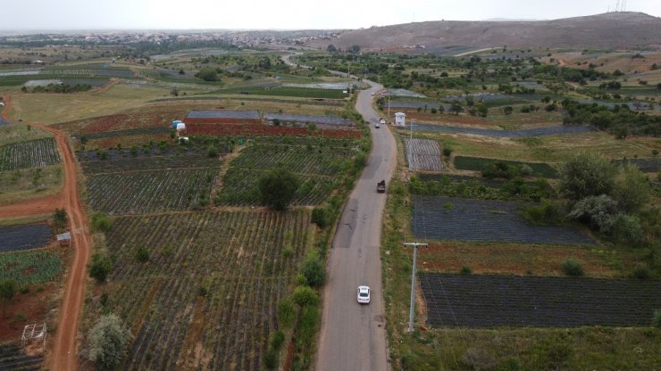
[[[126,355],[130,337],[120,317],[112,313],[102,316],[88,334],[88,359],[102,369],[114,369]]]

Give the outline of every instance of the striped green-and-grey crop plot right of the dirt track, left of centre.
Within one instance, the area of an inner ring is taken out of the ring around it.
[[[208,200],[216,169],[167,169],[88,177],[89,204],[110,214],[186,210]]]

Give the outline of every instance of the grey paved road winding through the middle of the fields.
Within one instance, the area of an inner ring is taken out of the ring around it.
[[[367,81],[365,81],[367,82]],[[389,181],[395,169],[397,145],[389,128],[374,128],[372,87],[358,96],[357,110],[370,123],[372,154],[357,181],[328,261],[329,279],[323,292],[322,330],[316,357],[318,371],[389,369],[385,309],[381,289],[381,216],[385,194],[376,193],[381,179]],[[357,287],[372,288],[372,302],[356,301]]]

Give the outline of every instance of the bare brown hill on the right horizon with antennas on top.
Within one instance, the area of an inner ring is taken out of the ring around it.
[[[642,12],[608,12],[553,21],[406,23],[345,31],[337,39],[314,40],[310,46],[360,45],[367,51],[397,51],[423,45],[427,52],[439,52],[448,45],[631,49],[659,47],[660,40],[661,18]]]

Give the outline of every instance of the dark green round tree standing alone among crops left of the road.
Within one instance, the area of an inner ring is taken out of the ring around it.
[[[285,210],[299,185],[298,178],[286,169],[272,169],[257,184],[262,203],[271,206],[274,210]]]

